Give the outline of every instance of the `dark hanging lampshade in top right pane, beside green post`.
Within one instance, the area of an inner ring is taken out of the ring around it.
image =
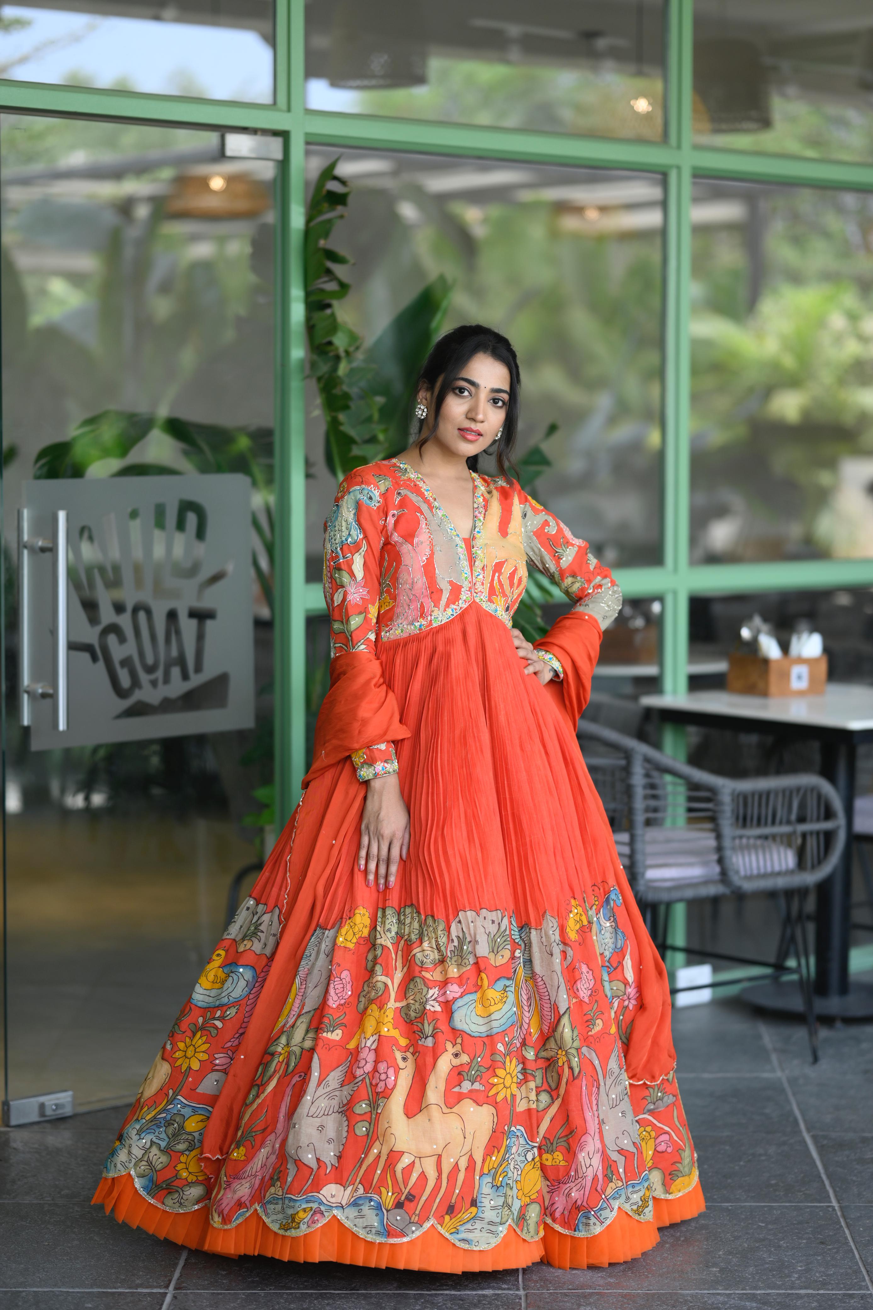
[[[770,85],[751,41],[711,37],[694,47],[695,130],[760,132],[771,126]]]

